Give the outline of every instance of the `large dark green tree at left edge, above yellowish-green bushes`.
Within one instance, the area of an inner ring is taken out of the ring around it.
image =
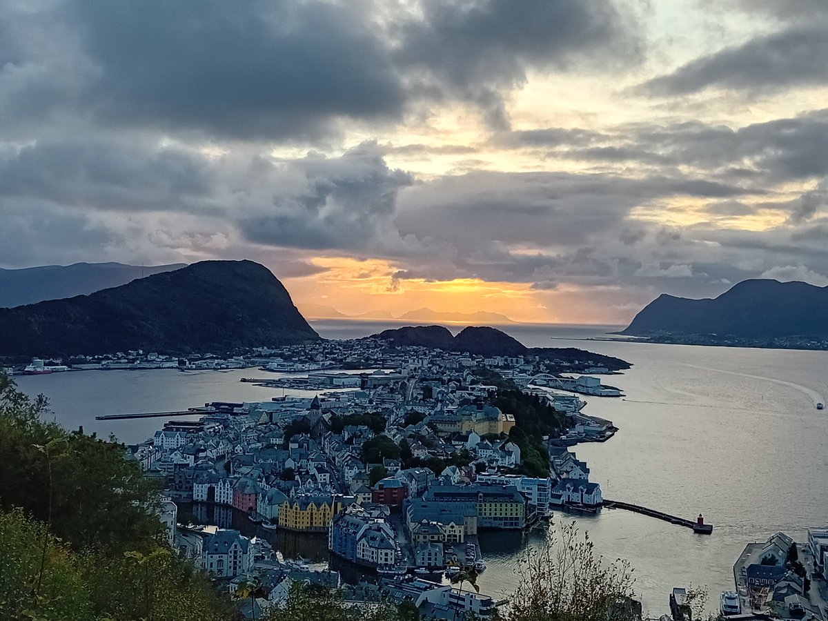
[[[151,548],[161,532],[158,485],[123,445],[43,422],[47,411],[46,399],[0,377],[0,509],[24,508],[76,550]]]

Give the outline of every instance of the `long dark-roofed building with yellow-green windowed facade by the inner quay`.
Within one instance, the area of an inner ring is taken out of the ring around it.
[[[479,528],[522,528],[526,524],[526,501],[513,485],[434,485],[425,500],[440,503],[473,502]]]

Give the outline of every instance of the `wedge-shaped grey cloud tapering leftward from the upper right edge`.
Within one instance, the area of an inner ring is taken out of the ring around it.
[[[824,14],[815,17],[692,60],[672,74],[648,80],[640,90],[651,95],[680,95],[715,87],[755,94],[825,84],[828,19]]]

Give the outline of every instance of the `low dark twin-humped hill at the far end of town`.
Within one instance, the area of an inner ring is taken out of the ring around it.
[[[367,338],[387,340],[401,347],[421,346],[490,357],[532,357],[554,361],[559,364],[565,363],[566,366],[579,369],[603,367],[609,371],[620,371],[630,368],[630,364],[625,360],[604,354],[595,354],[583,349],[571,347],[529,348],[505,332],[486,326],[469,326],[460,330],[460,333],[455,336],[442,325],[413,325],[394,330],[383,330]]]

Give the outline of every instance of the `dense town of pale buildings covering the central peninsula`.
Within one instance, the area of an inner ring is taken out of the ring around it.
[[[599,484],[570,447],[618,430],[585,415],[577,393],[620,392],[598,378],[561,375],[573,367],[608,373],[597,363],[401,349],[377,339],[256,354],[262,375],[306,373],[243,381],[320,393],[207,403],[190,411],[199,420],[166,422],[129,456],[166,486],[171,546],[233,592],[256,575],[270,586],[262,607],[286,597],[289,580],[343,580],[286,559],[265,537],[195,517],[205,507],[244,513],[259,533],[326,537],[332,558],[373,576],[374,590],[360,597],[413,599],[433,618],[489,614],[503,603],[451,585],[485,570],[478,532],[527,532],[548,527],[553,510],[601,507]],[[180,506],[192,514],[184,519]]]

